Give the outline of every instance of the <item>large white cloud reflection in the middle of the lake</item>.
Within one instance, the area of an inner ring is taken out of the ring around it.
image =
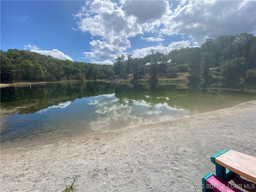
[[[119,104],[114,94],[101,95],[90,100],[88,104],[95,105],[95,113],[99,114],[95,121],[89,123],[90,128],[94,131],[113,130],[169,120],[187,113],[184,109],[168,106],[166,102],[152,105],[145,100],[132,100],[132,106],[128,105],[128,99],[125,99],[124,102],[125,104]],[[153,110],[148,110],[152,106]]]

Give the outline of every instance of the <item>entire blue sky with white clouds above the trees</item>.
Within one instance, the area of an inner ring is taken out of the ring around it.
[[[207,38],[256,34],[256,1],[0,1],[1,49],[112,64],[201,46]]]

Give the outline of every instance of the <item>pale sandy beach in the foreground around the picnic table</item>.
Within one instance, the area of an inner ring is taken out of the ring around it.
[[[255,114],[256,101],[251,101],[187,118],[4,149],[1,192],[60,192],[74,178],[79,192],[201,192],[202,177],[215,173],[210,157],[216,152],[230,148],[256,156]],[[242,178],[231,182],[237,180]]]

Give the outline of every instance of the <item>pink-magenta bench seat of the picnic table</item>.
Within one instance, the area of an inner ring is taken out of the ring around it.
[[[215,192],[242,192],[241,190],[234,187],[234,185],[218,178],[215,175],[210,176],[206,179],[206,188],[211,188]]]

